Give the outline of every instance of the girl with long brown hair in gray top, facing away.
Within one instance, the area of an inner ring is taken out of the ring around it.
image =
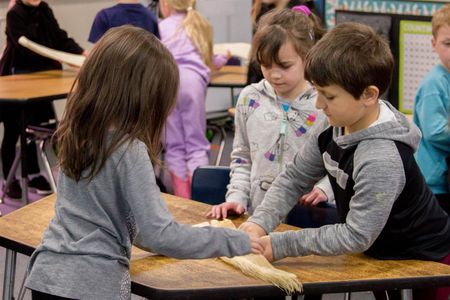
[[[153,165],[178,69],[148,31],[121,26],[96,44],[56,132],[55,217],[30,259],[36,299],[130,299],[131,245],[176,258],[262,253],[258,238],[175,222]],[[50,295],[48,295],[50,294]]]

